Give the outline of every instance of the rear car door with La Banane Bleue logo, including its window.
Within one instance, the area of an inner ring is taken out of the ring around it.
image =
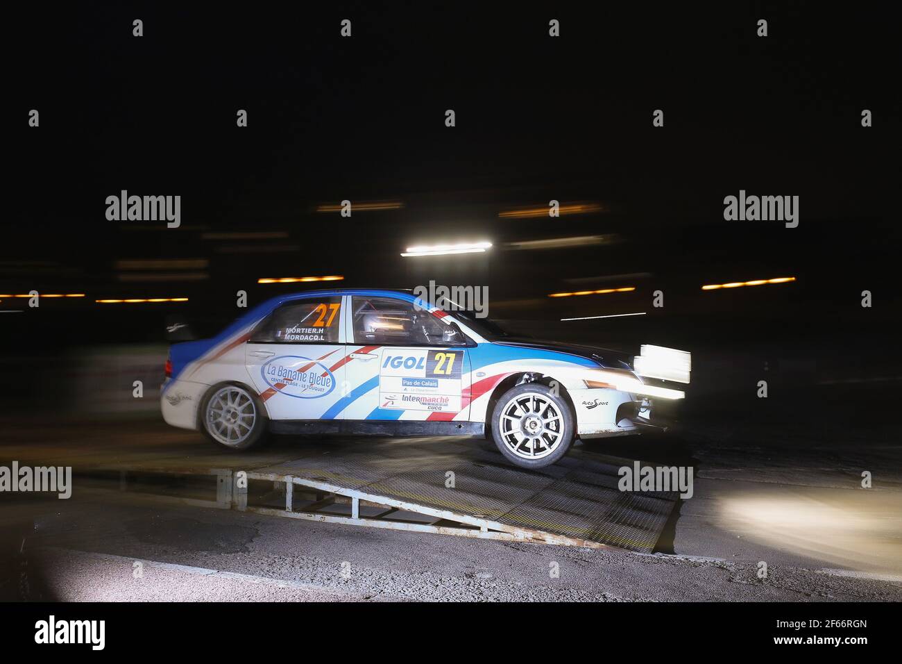
[[[342,397],[342,302],[341,295],[291,300],[254,329],[245,363],[271,419],[320,419]]]

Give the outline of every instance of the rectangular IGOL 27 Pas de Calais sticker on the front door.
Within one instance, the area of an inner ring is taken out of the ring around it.
[[[379,371],[379,406],[458,413],[464,351],[386,348]]]

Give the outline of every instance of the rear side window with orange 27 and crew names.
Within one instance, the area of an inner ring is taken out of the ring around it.
[[[251,335],[251,343],[337,343],[341,297],[282,304]]]

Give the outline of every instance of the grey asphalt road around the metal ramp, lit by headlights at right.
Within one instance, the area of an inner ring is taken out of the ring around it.
[[[762,435],[762,426],[587,445],[694,467],[694,495],[677,503],[651,555],[173,507],[78,486],[70,500],[6,495],[0,523],[9,548],[16,524],[33,519],[32,592],[67,601],[902,601],[895,434],[859,432],[862,444],[848,431],[812,440],[802,428]],[[175,451],[190,464],[217,454],[198,435],[143,419],[13,431],[0,463],[164,463]],[[256,454],[288,458],[297,444],[280,439]]]

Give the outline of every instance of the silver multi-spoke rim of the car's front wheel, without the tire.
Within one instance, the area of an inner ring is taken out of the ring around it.
[[[521,459],[548,456],[564,440],[564,417],[557,404],[539,392],[511,398],[498,418],[504,446]]]

